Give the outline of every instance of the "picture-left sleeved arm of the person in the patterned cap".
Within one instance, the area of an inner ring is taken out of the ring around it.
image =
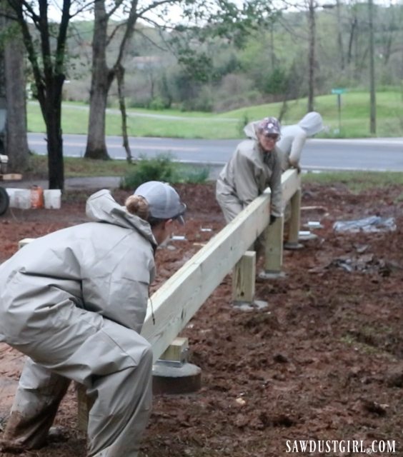
[[[234,184],[237,197],[244,207],[259,195],[259,186],[254,163],[247,154],[237,150],[234,156]]]

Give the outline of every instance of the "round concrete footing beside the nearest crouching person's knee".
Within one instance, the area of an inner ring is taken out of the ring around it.
[[[193,363],[169,366],[156,363],[152,369],[152,391],[161,393],[191,393],[201,388],[201,368]]]

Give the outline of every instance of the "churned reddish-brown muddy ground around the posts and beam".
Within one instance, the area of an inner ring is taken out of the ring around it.
[[[179,191],[189,214],[176,234],[186,241],[159,249],[154,290],[224,226],[212,185]],[[9,210],[0,218],[0,261],[21,238],[85,221],[84,194],[64,196],[60,210]],[[302,224],[321,222],[317,238],[284,251],[286,278],[257,282],[267,308],[234,308],[227,276],[196,313],[182,335],[189,337],[191,362],[201,367],[201,390],[155,396],[142,456],[279,457],[301,451],[295,440],[358,440],[363,448],[394,441],[394,455],[403,456],[402,195],[397,186],[362,194],[343,184],[304,186],[302,206],[322,207],[302,210]],[[124,194],[115,196],[122,201]],[[397,229],[333,229],[335,221],[374,215],[393,217]],[[22,363],[18,352],[0,345],[3,427]],[[76,418],[71,388],[56,418],[66,441],[22,455],[84,457]],[[337,446],[300,455],[364,455]]]

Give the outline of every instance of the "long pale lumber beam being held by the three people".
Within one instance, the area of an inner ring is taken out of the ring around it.
[[[283,200],[299,189],[296,170],[282,174]],[[235,263],[269,223],[270,191],[257,197],[206,246],[176,271],[150,298],[141,335],[151,343],[154,360],[169,346]]]

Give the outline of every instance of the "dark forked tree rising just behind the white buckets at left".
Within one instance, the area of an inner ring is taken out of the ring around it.
[[[79,0],[60,2],[61,18],[56,24],[49,16],[49,2],[46,0],[5,1],[9,4],[9,19],[16,21],[21,28],[46,124],[49,189],[64,189],[61,99],[66,79],[64,58],[67,28],[71,18],[88,8],[89,4]]]

